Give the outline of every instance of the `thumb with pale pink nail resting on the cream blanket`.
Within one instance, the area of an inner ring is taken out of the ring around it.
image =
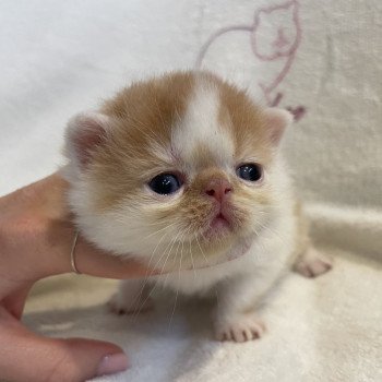
[[[2,317],[1,317],[2,315]],[[44,338],[0,313],[0,380],[85,381],[123,371],[128,360],[112,344],[92,339]]]

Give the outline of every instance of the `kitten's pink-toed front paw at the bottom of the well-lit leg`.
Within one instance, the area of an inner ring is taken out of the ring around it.
[[[265,333],[265,325],[254,317],[241,317],[230,322],[219,323],[215,326],[217,341],[234,341],[244,343],[256,339]]]

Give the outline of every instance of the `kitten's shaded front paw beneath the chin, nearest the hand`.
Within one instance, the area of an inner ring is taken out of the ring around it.
[[[126,279],[110,298],[108,306],[117,314],[140,313],[153,307],[151,287],[144,279]]]

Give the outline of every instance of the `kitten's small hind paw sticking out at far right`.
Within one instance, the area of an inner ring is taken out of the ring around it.
[[[306,277],[317,277],[329,272],[332,266],[330,259],[310,249],[297,260],[294,271]]]

